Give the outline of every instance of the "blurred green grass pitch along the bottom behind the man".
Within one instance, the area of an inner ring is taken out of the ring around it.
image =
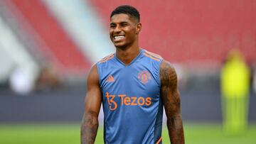
[[[225,135],[219,124],[184,124],[187,144],[255,144],[256,125],[240,135]],[[96,143],[103,143],[99,128]],[[163,141],[169,143],[166,128]],[[1,144],[75,144],[80,143],[79,123],[0,124]]]

